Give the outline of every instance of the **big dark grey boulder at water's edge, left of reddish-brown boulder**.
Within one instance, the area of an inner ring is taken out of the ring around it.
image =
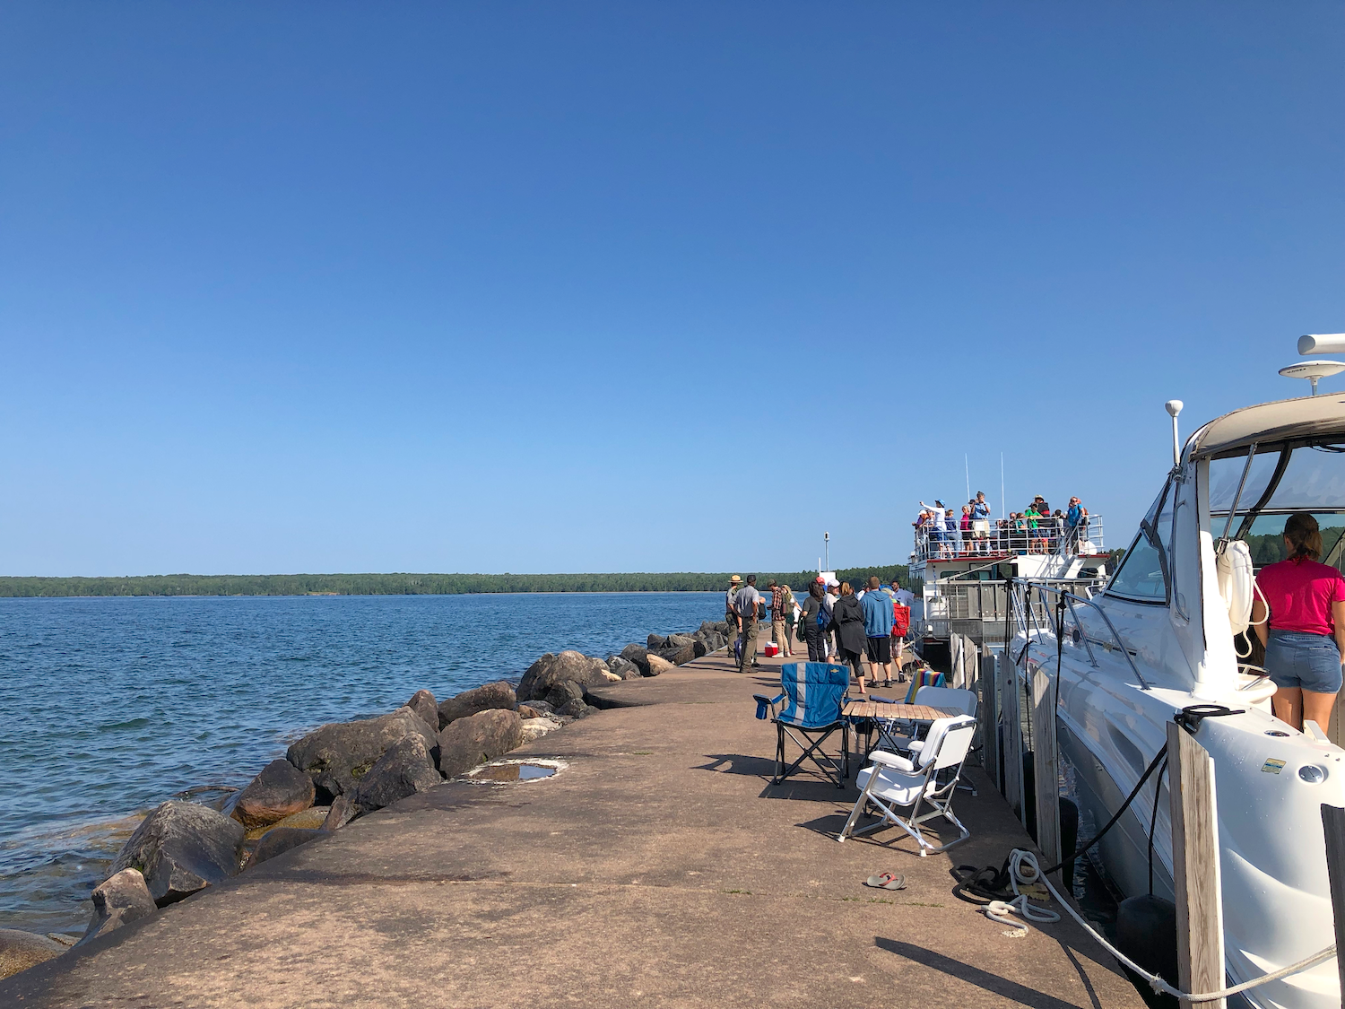
[[[137,869],[159,907],[238,872],[243,826],[194,802],[165,802],[136,827],[109,876]]]

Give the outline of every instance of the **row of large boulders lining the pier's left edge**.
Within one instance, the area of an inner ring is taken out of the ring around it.
[[[395,712],[323,725],[222,810],[169,800],[151,811],[93,891],[93,918],[75,946],[596,714],[585,687],[656,677],[725,647],[728,634],[728,624],[707,620],[691,634],[651,634],[605,659],[547,652],[516,687],[499,681],[443,702],[417,690]],[[0,928],[0,978],[67,948],[55,936]]]

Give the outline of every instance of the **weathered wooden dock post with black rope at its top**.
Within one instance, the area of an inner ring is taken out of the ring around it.
[[[1167,784],[1177,896],[1177,969],[1182,992],[1224,986],[1224,909],[1219,879],[1215,761],[1196,739],[1167,722]],[[1201,1002],[1224,1009],[1225,1000]]]

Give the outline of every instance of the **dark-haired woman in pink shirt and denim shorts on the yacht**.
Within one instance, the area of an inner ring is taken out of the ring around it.
[[[1289,560],[1267,564],[1256,576],[1252,605],[1256,636],[1266,646],[1266,671],[1275,681],[1275,717],[1295,729],[1315,721],[1325,732],[1341,689],[1345,654],[1345,578],[1322,556],[1317,519],[1306,511],[1284,522]],[[1266,620],[1266,604],[1270,620]]]

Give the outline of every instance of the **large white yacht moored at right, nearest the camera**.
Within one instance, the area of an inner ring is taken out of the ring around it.
[[[1196,735],[1215,760],[1225,969],[1235,983],[1303,959],[1333,935],[1319,807],[1345,806],[1340,717],[1305,732],[1272,717],[1274,683],[1235,644],[1251,607],[1248,560],[1280,558],[1294,511],[1317,517],[1322,561],[1341,566],[1345,396],[1248,406],[1200,428],[1106,588],[1069,600],[1059,655],[1050,622],[1038,626],[1025,609],[1028,631],[1010,647],[1020,673],[1041,666],[1053,674],[1060,665],[1060,751],[1096,826],[1163,749],[1177,710],[1216,704],[1240,712],[1205,718]],[[1149,892],[1153,787],[1150,779],[1100,845],[1126,896]],[[1154,893],[1171,899],[1166,775],[1161,788]],[[1247,994],[1267,1008],[1341,1005],[1334,961]]]

